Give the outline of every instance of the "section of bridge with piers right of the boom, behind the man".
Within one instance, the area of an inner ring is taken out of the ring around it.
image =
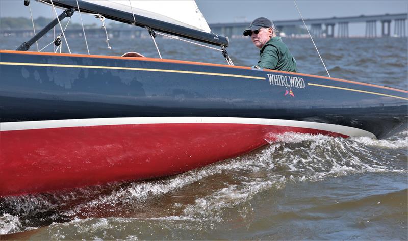
[[[405,23],[407,15],[407,13],[400,13],[370,16],[360,15],[353,17],[314,18],[304,19],[304,22],[308,25],[310,33],[316,37],[347,38],[349,37],[349,23],[366,23],[365,37],[379,37],[377,35],[377,22],[381,23],[381,37],[406,37]],[[274,21],[274,24],[279,31],[285,32],[285,34],[289,36],[299,34],[301,33],[301,28],[304,29],[304,24],[301,19]],[[394,25],[393,35],[391,35],[391,25]],[[210,28],[214,33],[230,37],[242,36],[243,30],[248,26],[249,22],[210,24]],[[337,34],[335,34],[335,29],[337,29]]]

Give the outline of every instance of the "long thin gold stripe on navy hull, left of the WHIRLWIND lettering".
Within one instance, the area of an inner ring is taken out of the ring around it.
[[[152,71],[152,72],[167,72],[167,73],[202,74],[202,75],[214,75],[214,76],[236,77],[236,78],[251,78],[251,79],[261,79],[262,81],[265,81],[265,79],[266,79],[265,77],[254,77],[254,76],[246,76],[246,75],[196,72],[196,71],[184,71],[184,70],[170,70],[170,69],[145,69],[145,68],[128,68],[128,67],[113,67],[113,66],[37,64],[37,63],[13,63],[13,62],[0,62],[0,65],[64,67],[64,68],[89,68],[89,69],[119,69],[119,70],[137,70],[137,71]]]

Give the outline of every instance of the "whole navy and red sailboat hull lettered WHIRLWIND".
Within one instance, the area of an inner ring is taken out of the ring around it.
[[[0,196],[182,173],[285,132],[386,138],[407,91],[184,61],[0,51]]]

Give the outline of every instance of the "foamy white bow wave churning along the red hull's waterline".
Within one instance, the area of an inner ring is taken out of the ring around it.
[[[216,225],[236,207],[236,215],[250,215],[249,200],[288,183],[361,173],[407,173],[407,138],[408,131],[386,140],[275,135],[276,141],[263,149],[165,179],[1,198],[0,231],[110,216],[207,220],[206,225]]]

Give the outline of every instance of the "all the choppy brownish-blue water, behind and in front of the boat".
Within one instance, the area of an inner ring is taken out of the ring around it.
[[[0,49],[22,41],[2,37]],[[86,52],[82,39],[68,41],[72,52]],[[299,72],[326,75],[309,39],[284,42]],[[158,56],[151,39],[111,39],[111,50],[104,39],[88,43],[91,53]],[[224,63],[218,51],[170,39],[157,38],[157,44],[163,58]],[[316,44],[332,77],[408,89],[406,38]],[[249,40],[232,39],[228,52],[236,65],[257,63]],[[0,234],[31,240],[406,240],[407,156],[407,130],[386,140],[287,133],[245,156],[170,178],[2,198]]]

